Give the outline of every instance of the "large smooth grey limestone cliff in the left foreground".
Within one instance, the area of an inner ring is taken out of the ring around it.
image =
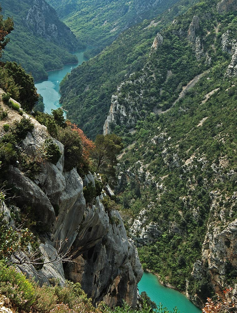
[[[36,121],[34,126],[32,135],[28,133],[21,145],[29,156],[42,147],[46,136],[44,126]],[[56,165],[44,161],[42,171],[33,180],[19,168],[10,168],[10,183],[20,194],[16,203],[20,208],[31,206],[35,212],[44,237],[40,249],[46,257],[56,255],[57,251],[72,255],[73,263],[68,263],[65,276],[80,282],[93,303],[103,300],[114,306],[121,305],[124,299],[135,306],[137,283],[143,272],[123,221],[118,211],[105,211],[102,195],[101,199],[97,197],[86,203],[83,186],[90,182],[95,186],[96,175],[89,173],[82,180],[76,169],[64,172],[63,145],[54,142],[62,156]],[[109,186],[106,189],[112,193]],[[52,278],[58,278],[61,284],[65,281],[62,262],[57,266],[47,264],[39,271],[33,266],[20,266],[20,269],[41,283],[49,283]],[[43,280],[39,278],[42,276]]]

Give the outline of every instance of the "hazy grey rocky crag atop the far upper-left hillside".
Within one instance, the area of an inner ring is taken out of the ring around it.
[[[58,44],[62,44],[62,39],[66,40],[68,49],[75,49],[76,37],[70,28],[59,20],[56,11],[44,0],[31,0],[30,3],[32,6],[25,18],[29,30]]]

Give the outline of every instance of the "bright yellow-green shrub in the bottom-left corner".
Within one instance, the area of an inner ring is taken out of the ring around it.
[[[0,292],[13,299],[15,305],[23,310],[29,310],[35,301],[32,283],[13,267],[7,267],[1,263]]]

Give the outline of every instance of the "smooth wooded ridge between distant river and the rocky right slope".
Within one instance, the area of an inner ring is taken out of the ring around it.
[[[91,138],[102,132],[111,97],[124,77],[143,68],[158,31],[171,23],[186,1],[158,16],[153,22],[129,28],[98,56],[74,69],[61,83],[61,102],[68,118]]]

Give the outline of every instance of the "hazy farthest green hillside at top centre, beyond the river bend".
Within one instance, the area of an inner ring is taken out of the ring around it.
[[[119,33],[145,18],[153,18],[177,0],[48,0],[75,35],[95,47],[98,53]]]

